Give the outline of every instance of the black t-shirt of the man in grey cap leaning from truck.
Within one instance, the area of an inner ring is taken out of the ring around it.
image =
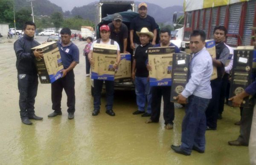
[[[120,26],[120,31],[118,33],[115,32],[115,27],[113,23],[108,24],[110,28],[110,39],[115,40],[120,46],[120,52],[124,51],[124,39],[128,38],[128,28],[122,23]]]

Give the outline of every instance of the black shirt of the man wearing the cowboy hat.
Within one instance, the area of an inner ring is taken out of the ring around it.
[[[148,48],[152,47],[151,43],[145,46],[138,46],[135,51],[134,59],[136,59],[136,77],[148,77],[146,61],[148,60]]]

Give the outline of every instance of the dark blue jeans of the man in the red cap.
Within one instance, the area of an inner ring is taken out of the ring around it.
[[[102,86],[103,86],[104,80],[93,80],[94,84],[94,110],[99,110],[101,105],[101,92],[102,92]],[[106,110],[111,110],[113,108],[113,101],[114,101],[114,81],[107,81],[105,80],[105,86],[106,86]]]

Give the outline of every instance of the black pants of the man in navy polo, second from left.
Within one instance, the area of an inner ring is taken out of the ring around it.
[[[75,75],[74,71],[71,70],[65,77],[56,80],[52,83],[52,109],[55,112],[61,112],[61,97],[63,88],[67,94],[67,112],[75,112]]]

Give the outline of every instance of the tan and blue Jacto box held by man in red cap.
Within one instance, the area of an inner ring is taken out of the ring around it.
[[[95,64],[91,67],[91,78],[96,80],[114,81],[117,46],[94,43],[93,61]]]

